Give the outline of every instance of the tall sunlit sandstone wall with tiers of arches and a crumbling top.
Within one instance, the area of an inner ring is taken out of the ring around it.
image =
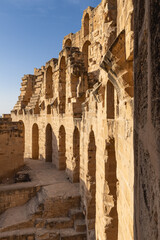
[[[12,111],[25,157],[80,183],[88,239],[133,239],[132,15],[131,0],[88,7],[59,58],[22,79]]]

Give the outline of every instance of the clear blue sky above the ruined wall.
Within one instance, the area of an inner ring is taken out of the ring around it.
[[[20,95],[21,77],[58,57],[63,37],[81,27],[83,10],[101,0],[0,0],[0,115]]]

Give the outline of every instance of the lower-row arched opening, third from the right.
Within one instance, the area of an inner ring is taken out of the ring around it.
[[[73,182],[79,182],[80,178],[80,134],[77,127],[73,133],[73,161],[74,161],[74,173]]]

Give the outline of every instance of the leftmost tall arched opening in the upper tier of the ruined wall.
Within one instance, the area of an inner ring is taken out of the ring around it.
[[[53,97],[52,67],[49,66],[46,71],[46,98]]]

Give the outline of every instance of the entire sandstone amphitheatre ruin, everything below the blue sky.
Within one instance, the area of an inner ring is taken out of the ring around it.
[[[24,75],[0,119],[0,240],[160,239],[159,10],[102,0]]]

